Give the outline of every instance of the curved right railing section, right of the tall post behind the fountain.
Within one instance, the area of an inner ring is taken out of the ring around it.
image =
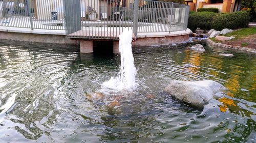
[[[187,28],[189,7],[182,4],[147,1],[139,8],[138,33],[174,32]]]

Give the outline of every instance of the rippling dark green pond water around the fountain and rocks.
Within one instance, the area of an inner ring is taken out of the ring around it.
[[[197,43],[204,53],[187,48]],[[1,142],[256,142],[255,54],[200,40],[133,54],[137,89],[106,92],[118,55],[0,40]],[[211,79],[227,90],[200,109],[163,92],[172,79]]]

